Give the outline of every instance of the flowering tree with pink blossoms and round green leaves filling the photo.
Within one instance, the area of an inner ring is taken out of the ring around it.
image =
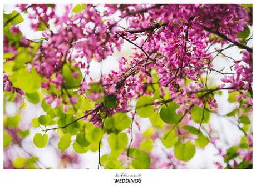
[[[55,147],[64,167],[79,167],[78,154],[91,150],[97,168],[185,168],[211,145],[222,159],[215,168],[252,168],[251,4],[76,4],[61,15],[54,4],[17,6],[3,25],[5,168],[43,168],[24,150],[35,130],[34,147]],[[23,36],[22,14],[42,38]],[[125,43],[132,54],[119,59],[119,70],[91,78],[91,62]],[[240,59],[225,54],[229,48]],[[218,56],[232,64],[215,68]],[[222,93],[235,105],[225,115],[216,101]],[[45,114],[24,123],[28,102]],[[18,108],[12,115],[10,103]],[[235,125],[240,143],[220,145],[213,115]],[[141,118],[148,118],[143,131]],[[13,155],[17,148],[25,155]]]

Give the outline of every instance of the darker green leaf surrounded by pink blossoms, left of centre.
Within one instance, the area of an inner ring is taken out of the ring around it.
[[[77,78],[73,76],[73,72],[78,73]],[[64,80],[64,86],[66,89],[73,89],[80,86],[82,81],[82,73],[78,67],[69,67],[68,64],[64,64],[62,67],[62,76]]]

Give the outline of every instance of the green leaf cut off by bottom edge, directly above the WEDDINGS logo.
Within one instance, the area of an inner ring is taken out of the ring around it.
[[[132,166],[135,169],[147,169],[150,166],[150,157],[149,154],[142,150],[131,150],[132,157],[135,159],[132,160]]]

